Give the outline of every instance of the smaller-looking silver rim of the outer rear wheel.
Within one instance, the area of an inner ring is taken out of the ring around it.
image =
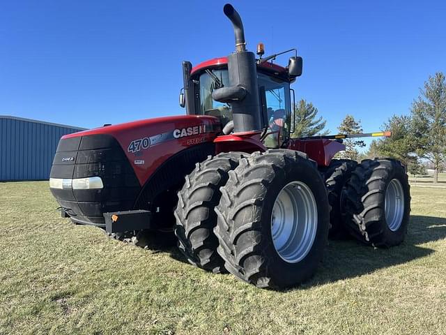
[[[393,232],[398,230],[404,216],[403,186],[398,179],[392,179],[385,190],[385,222]]]

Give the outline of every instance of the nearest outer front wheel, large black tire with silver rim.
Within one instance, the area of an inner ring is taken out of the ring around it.
[[[314,274],[327,244],[329,206],[313,161],[298,151],[255,152],[240,159],[221,190],[214,232],[228,271],[259,288],[288,288]],[[289,207],[299,207],[299,215]]]

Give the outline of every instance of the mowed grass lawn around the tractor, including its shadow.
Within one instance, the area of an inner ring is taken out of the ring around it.
[[[274,292],[73,225],[47,182],[0,183],[0,334],[446,334],[446,189],[411,191],[403,245],[330,241]]]

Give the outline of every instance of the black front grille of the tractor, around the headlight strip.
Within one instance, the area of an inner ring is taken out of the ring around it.
[[[139,181],[118,142],[111,135],[62,139],[57,147],[50,178],[101,177],[102,189],[51,188],[52,194],[73,221],[105,226],[103,213],[133,208],[141,190]]]

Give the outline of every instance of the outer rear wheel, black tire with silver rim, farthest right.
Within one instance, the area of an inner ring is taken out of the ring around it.
[[[392,158],[357,165],[342,196],[349,232],[365,244],[390,247],[406,236],[410,186],[403,165]]]

